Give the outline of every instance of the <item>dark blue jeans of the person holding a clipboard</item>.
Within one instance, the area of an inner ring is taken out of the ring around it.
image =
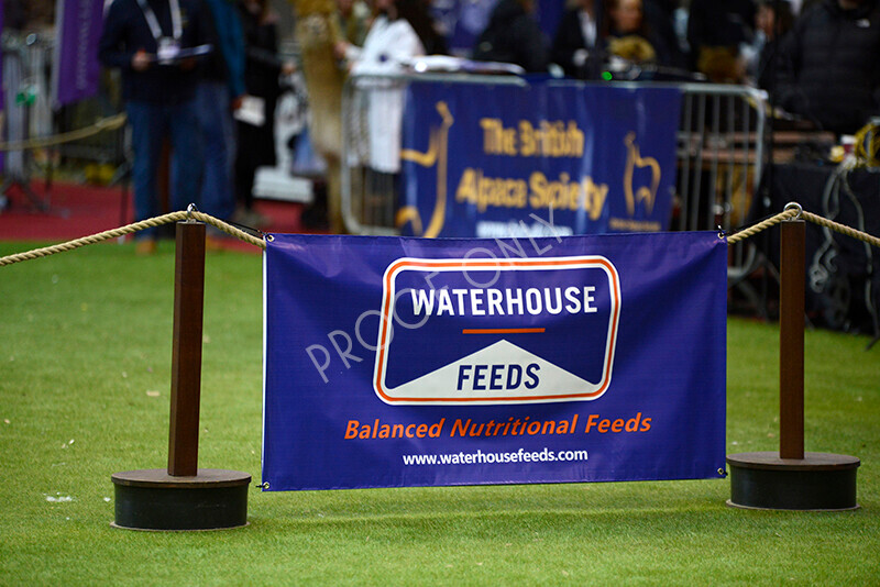
[[[169,212],[186,210],[189,202],[198,199],[198,166],[194,162],[198,153],[198,126],[194,100],[179,104],[155,104],[129,102],[125,112],[131,125],[134,165],[135,220],[146,220],[165,212],[160,204],[157,173],[162,145],[167,136],[172,147],[172,186]],[[139,233],[143,237],[155,237],[155,229]]]

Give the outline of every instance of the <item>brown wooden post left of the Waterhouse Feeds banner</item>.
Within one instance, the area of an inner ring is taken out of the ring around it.
[[[168,439],[168,475],[174,476],[198,474],[204,306],[205,224],[178,222]]]

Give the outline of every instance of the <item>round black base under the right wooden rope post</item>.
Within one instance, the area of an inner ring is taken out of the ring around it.
[[[729,506],[770,510],[851,510],[856,502],[855,456],[804,453],[780,458],[779,453],[727,455]]]

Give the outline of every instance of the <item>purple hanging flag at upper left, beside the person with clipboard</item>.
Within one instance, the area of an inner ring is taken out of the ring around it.
[[[102,11],[103,0],[57,0],[58,37],[53,78],[56,107],[89,98],[98,91]]]

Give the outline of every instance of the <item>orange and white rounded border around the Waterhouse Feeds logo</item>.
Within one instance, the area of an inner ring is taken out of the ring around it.
[[[389,323],[389,315],[391,315],[391,302],[393,296],[388,296],[387,294],[391,291],[391,285],[396,274],[404,268],[409,267],[417,267],[424,269],[433,269],[433,268],[442,268],[442,267],[460,267],[462,270],[466,270],[468,268],[501,268],[501,267],[553,267],[553,266],[562,266],[562,265],[578,265],[582,264],[584,266],[595,266],[600,265],[606,269],[608,273],[608,281],[612,289],[613,300],[614,300],[614,308],[613,308],[613,315],[610,320],[610,332],[608,335],[608,344],[605,347],[605,352],[607,354],[605,361],[605,368],[603,369],[603,381],[600,388],[590,394],[575,394],[575,395],[556,395],[556,396],[519,396],[519,397],[479,397],[479,398],[393,398],[385,394],[382,386],[382,379],[384,375],[384,359],[385,359],[385,350],[386,350],[386,335],[388,332],[387,324]],[[602,256],[586,256],[586,257],[554,257],[548,259],[457,259],[457,261],[446,261],[446,259],[410,259],[404,258],[399,259],[385,270],[384,284],[383,284],[383,311],[380,322],[380,344],[376,348],[378,353],[378,358],[376,363],[376,379],[374,381],[374,390],[376,394],[382,398],[383,401],[387,403],[415,403],[415,402],[448,402],[448,403],[465,403],[465,402],[508,402],[514,403],[518,401],[540,401],[540,400],[562,400],[562,399],[581,399],[581,398],[588,398],[595,399],[602,396],[610,385],[610,375],[612,375],[612,359],[614,358],[614,348],[617,342],[617,323],[620,318],[620,276],[617,273],[617,268],[605,257]]]

